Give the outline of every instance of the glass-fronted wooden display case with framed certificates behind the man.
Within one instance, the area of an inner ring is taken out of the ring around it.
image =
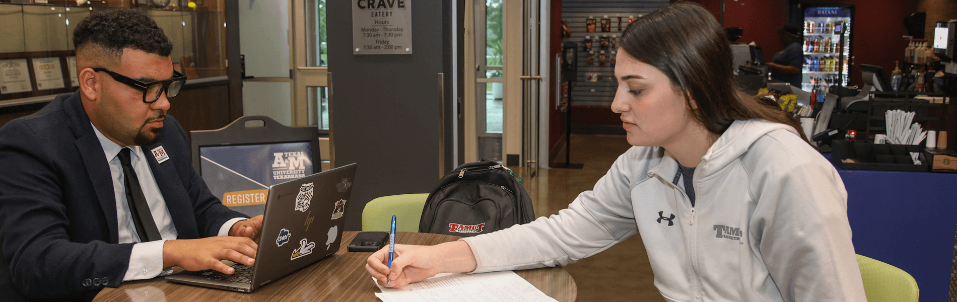
[[[225,0],[0,0],[0,104],[77,90],[73,31],[93,11],[143,11],[190,80],[227,76]],[[189,81],[188,81],[189,83]]]

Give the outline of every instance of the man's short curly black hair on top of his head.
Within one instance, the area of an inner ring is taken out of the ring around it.
[[[156,21],[140,11],[112,9],[92,11],[73,31],[73,46],[96,44],[119,59],[123,49],[134,49],[148,54],[169,56],[173,44],[169,42]]]

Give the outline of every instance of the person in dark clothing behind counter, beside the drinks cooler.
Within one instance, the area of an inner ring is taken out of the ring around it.
[[[771,78],[790,83],[801,88],[801,66],[804,64],[804,52],[801,50],[801,29],[785,26],[778,30],[784,49],[774,54],[768,62]]]

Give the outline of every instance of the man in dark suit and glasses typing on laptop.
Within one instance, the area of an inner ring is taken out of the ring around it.
[[[93,12],[74,45],[79,91],[0,129],[0,301],[252,265],[262,216],[211,195],[166,116],[186,79],[163,31],[137,11]]]

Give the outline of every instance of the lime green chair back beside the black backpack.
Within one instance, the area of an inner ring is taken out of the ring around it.
[[[362,230],[389,231],[395,215],[396,231],[418,232],[418,221],[428,193],[389,195],[373,199],[362,211]]]

